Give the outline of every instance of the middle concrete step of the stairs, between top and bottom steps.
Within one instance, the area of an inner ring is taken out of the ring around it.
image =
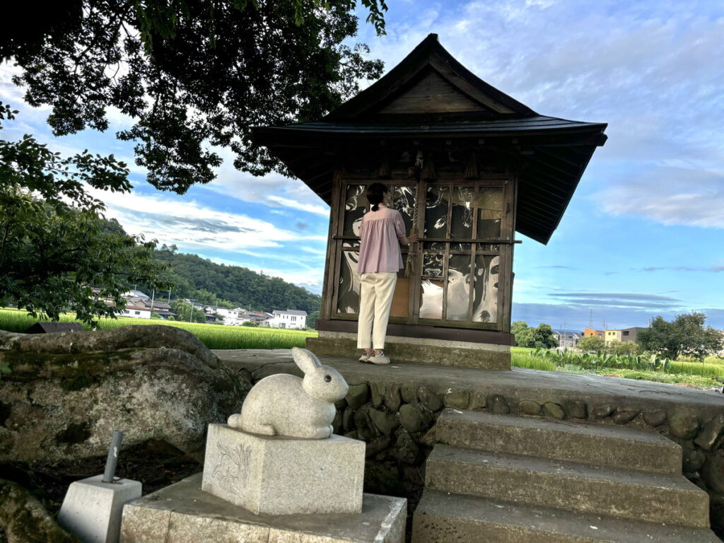
[[[435,445],[426,488],[646,522],[709,527],[709,496],[683,476]]]

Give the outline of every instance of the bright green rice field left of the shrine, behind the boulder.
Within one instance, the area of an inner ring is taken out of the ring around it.
[[[0,330],[23,332],[41,319],[34,319],[26,311],[0,309]],[[61,321],[75,321],[73,315],[61,316]],[[304,347],[307,337],[316,337],[317,333],[306,330],[280,330],[271,328],[225,327],[219,324],[198,324],[179,321],[161,321],[157,319],[100,319],[96,329],[110,329],[131,324],[164,324],[182,328],[194,334],[209,349],[290,349]],[[89,329],[85,324],[83,328]]]

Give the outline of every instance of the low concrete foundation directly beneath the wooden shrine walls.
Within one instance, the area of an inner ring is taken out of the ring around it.
[[[348,332],[319,332],[319,337],[306,339],[306,348],[317,356],[358,358],[361,353],[357,348],[357,335]],[[384,342],[384,353],[390,356],[392,363],[510,369],[510,345],[388,336]]]

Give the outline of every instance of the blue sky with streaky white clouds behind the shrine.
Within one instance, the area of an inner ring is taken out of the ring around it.
[[[389,2],[387,35],[360,40],[394,67],[431,32],[488,83],[540,114],[607,122],[548,245],[515,248],[513,319],[582,329],[645,326],[704,311],[724,328],[724,4],[720,1]],[[130,195],[98,194],[128,232],[319,292],[329,210],[298,180],[237,172],[186,195],[146,185],[114,132],[53,138],[47,110],[22,104],[0,67],[0,100],[20,109],[4,138],[30,132],[62,152],[115,153]],[[366,84],[366,83],[365,83]]]

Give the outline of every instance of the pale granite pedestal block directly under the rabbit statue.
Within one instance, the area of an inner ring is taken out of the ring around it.
[[[260,436],[209,424],[201,489],[267,515],[360,513],[365,444]]]

